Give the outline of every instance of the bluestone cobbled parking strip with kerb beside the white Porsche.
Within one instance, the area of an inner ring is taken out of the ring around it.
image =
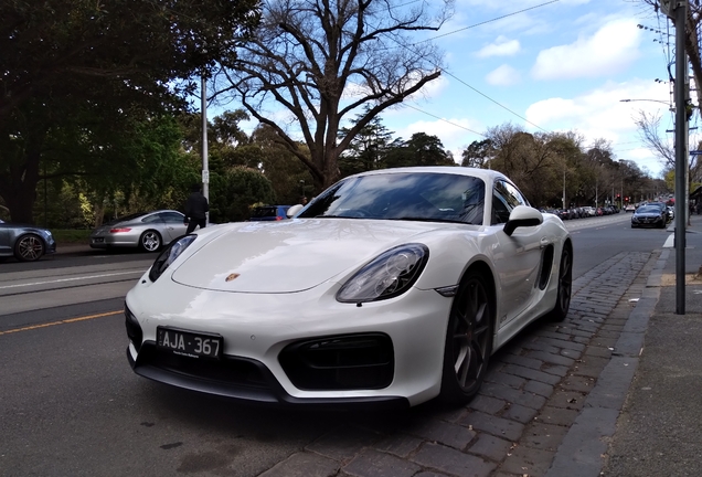
[[[598,475],[645,332],[636,306],[651,299],[660,254],[621,253],[574,280],[566,320],[541,320],[498,351],[467,406],[330,413],[332,432],[260,476]]]

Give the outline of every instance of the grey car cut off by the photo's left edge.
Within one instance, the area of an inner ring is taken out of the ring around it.
[[[0,261],[14,256],[20,262],[34,262],[56,252],[56,242],[47,229],[0,222]]]

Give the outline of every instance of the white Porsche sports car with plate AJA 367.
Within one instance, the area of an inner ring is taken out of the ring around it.
[[[462,403],[494,350],[567,314],[568,232],[499,172],[364,172],[300,209],[166,248],[126,298],[134,371],[278,404]]]

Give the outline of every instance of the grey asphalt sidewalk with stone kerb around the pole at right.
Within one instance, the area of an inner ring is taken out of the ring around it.
[[[666,247],[547,476],[702,475],[701,215],[685,242],[685,314],[676,314],[677,251]]]

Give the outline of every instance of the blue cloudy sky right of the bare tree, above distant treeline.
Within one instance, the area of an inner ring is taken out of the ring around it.
[[[454,15],[432,35],[444,74],[381,114],[394,138],[437,136],[460,162],[497,126],[574,131],[585,148],[604,139],[616,160],[661,176],[635,118],[659,115],[672,141],[674,29],[642,0],[455,0]]]

